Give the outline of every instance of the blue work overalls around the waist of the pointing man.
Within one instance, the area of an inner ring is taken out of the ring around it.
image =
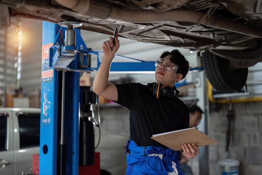
[[[179,167],[179,151],[157,146],[139,146],[135,141],[128,140],[126,153],[126,175],[184,175]]]

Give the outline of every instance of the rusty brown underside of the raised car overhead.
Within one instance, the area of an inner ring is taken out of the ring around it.
[[[192,49],[227,46],[245,49],[262,37],[262,5],[260,0],[238,1],[0,0],[0,3],[9,6],[11,16],[56,23],[80,21],[82,29],[107,34],[117,25],[120,36],[144,42]]]

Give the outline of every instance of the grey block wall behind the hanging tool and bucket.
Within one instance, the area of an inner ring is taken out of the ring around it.
[[[235,103],[234,106],[235,131],[226,152],[229,104],[219,107],[210,104],[209,135],[219,143],[209,146],[209,174],[221,174],[218,161],[224,158],[240,160],[240,175],[262,174],[262,102]]]

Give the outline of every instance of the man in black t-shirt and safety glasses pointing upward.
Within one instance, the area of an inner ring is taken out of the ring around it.
[[[109,37],[102,47],[104,57],[94,79],[93,91],[129,109],[126,174],[184,174],[179,168],[180,152],[154,141],[151,136],[189,126],[188,108],[175,96],[173,88],[186,76],[188,61],[178,50],[164,52],[156,61],[156,83],[113,84],[108,78],[110,64],[119,48],[118,33],[114,42],[113,37]],[[195,144],[183,144],[181,149],[185,157],[199,153]]]

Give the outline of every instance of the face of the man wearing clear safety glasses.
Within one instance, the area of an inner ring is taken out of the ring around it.
[[[166,66],[173,65],[176,66],[175,63],[170,61],[171,55],[167,55],[163,59],[166,59],[163,65],[156,66],[155,70],[155,78],[157,82],[160,82],[164,85],[174,86],[174,84],[179,81],[181,78],[178,76],[179,73],[175,73],[174,71],[167,70]]]

